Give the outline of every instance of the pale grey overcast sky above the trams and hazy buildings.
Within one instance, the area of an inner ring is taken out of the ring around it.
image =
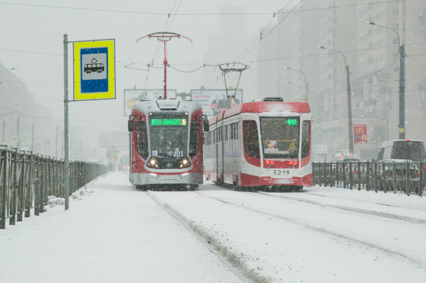
[[[243,46],[248,46],[261,28],[271,20],[270,25],[276,23],[272,19],[274,12],[298,2],[300,0],[235,0],[232,6],[246,6],[248,15],[226,17],[246,17],[247,30],[242,32],[248,35],[243,39],[246,41]],[[96,140],[97,143],[97,131],[127,131],[127,117],[123,116],[124,89],[135,85],[146,89],[163,88],[163,69],[151,69],[148,73],[124,67],[135,63],[131,67],[146,69],[147,64],[153,63],[153,58],[154,64],[161,67],[164,54],[162,46],[156,53],[159,41],[148,38],[137,44],[135,41],[168,30],[193,40],[191,43],[181,38],[168,43],[170,64],[181,70],[193,70],[205,63],[224,63],[205,62],[203,54],[208,51],[212,36],[229,38],[227,34],[219,34],[223,15],[218,14],[219,9],[229,3],[227,0],[4,1],[0,3],[0,62],[7,69],[16,68],[13,74],[34,94],[35,103],[49,109],[53,121],[60,126],[63,125],[63,34],[68,35],[69,41],[115,39],[116,99],[69,104],[70,135],[80,142]],[[69,43],[70,100],[73,97],[72,47]],[[244,51],[237,49],[230,54],[237,57]],[[251,60],[255,55],[256,49],[244,60]],[[202,80],[202,70],[193,73],[167,70],[167,88],[178,92],[199,88]],[[210,88],[224,87],[221,81],[217,81]]]

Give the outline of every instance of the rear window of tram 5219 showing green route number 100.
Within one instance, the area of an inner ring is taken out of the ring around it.
[[[260,118],[264,158],[299,157],[299,117]]]

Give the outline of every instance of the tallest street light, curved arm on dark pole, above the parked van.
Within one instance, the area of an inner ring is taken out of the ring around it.
[[[376,25],[373,22],[366,22],[368,25],[385,28],[392,30],[398,37],[398,48],[399,48],[399,139],[405,139],[405,46],[400,44],[399,34],[396,30]]]

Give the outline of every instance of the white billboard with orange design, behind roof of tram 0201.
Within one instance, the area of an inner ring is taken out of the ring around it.
[[[176,99],[176,89],[166,90],[167,99]],[[157,100],[164,96],[164,89],[124,89],[124,116],[132,113],[133,104],[139,100]]]

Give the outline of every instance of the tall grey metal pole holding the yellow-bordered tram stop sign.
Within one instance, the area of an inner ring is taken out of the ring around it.
[[[65,210],[69,208],[69,157],[68,157],[68,35],[63,35],[63,143]]]

